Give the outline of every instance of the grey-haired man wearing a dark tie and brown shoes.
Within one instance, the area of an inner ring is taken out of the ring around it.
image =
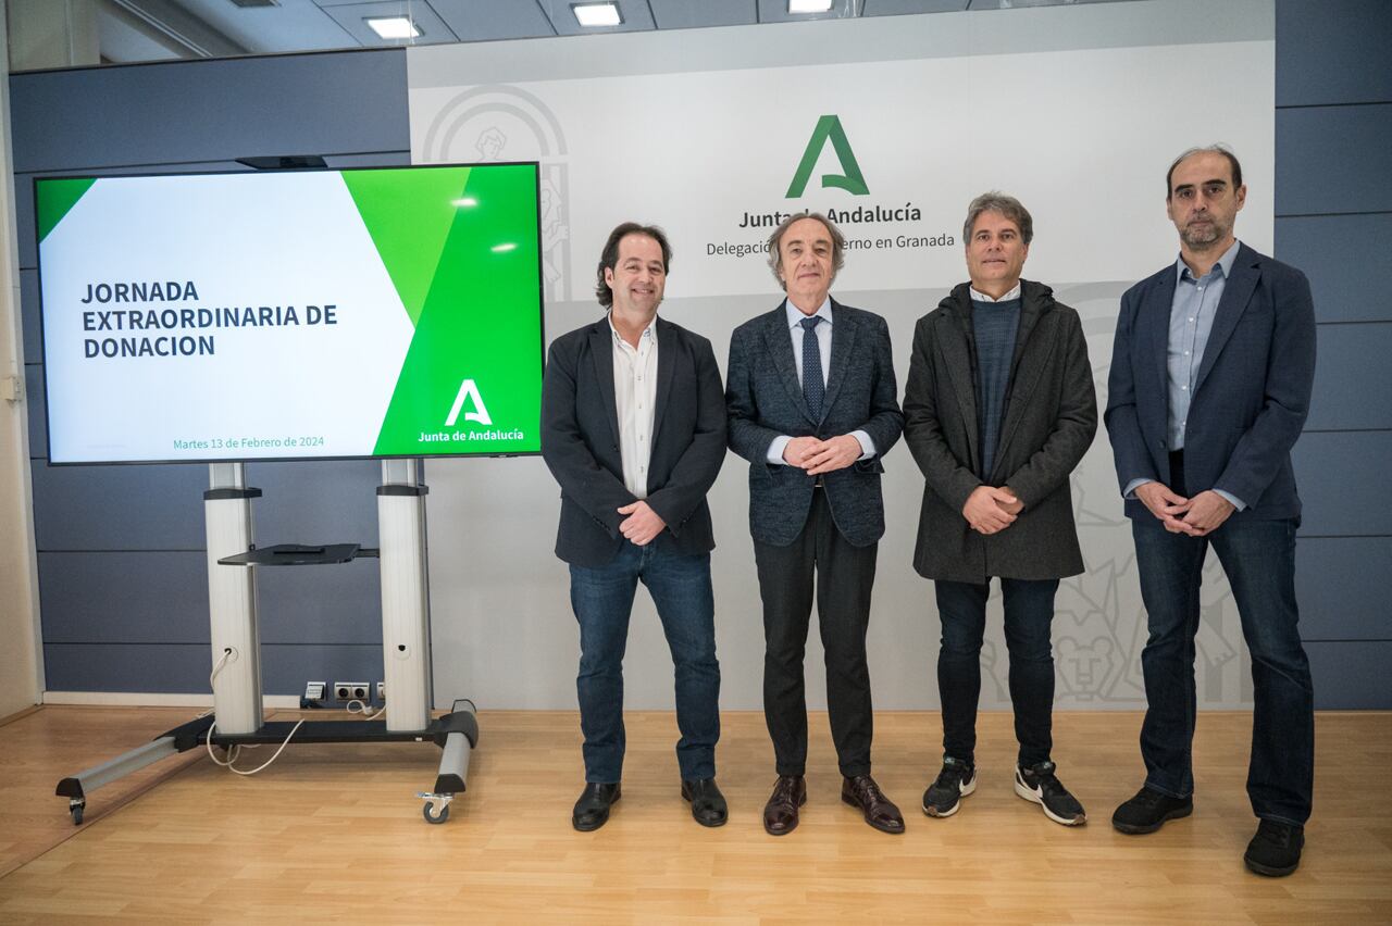
[[[729,446],[749,460],[749,530],[764,608],[764,719],[778,769],[764,829],[774,836],[798,826],[807,799],[803,652],[814,580],[841,798],[870,826],[903,831],[899,808],[870,777],[866,666],[884,534],[880,460],[899,439],[903,416],[884,318],[828,295],[844,246],[823,216],[784,221],[768,239],[768,263],[788,298],[729,341]]]

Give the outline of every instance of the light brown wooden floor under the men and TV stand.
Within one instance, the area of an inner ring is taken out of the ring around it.
[[[482,713],[469,791],[444,826],[413,797],[434,780],[429,744],[291,744],[249,779],[188,754],[93,793],[88,822],[71,826],[58,777],[192,713],[45,708],[0,727],[0,870],[29,859],[0,876],[0,923],[1392,922],[1389,713],[1320,715],[1304,863],[1278,880],[1242,866],[1254,829],[1243,713],[1201,715],[1194,816],[1144,837],[1108,825],[1141,780],[1140,717],[1109,712],[1055,717],[1059,774],[1091,813],[1079,829],[1015,797],[1002,713],[980,719],[977,793],[951,819],[923,816],[937,715],[881,713],[876,777],[908,833],[877,833],[839,802],[817,715],[802,826],[774,838],[760,826],[774,777],[763,717],[725,713],[732,819],[707,830],[678,795],[672,716],[636,713],[624,798],[606,827],[576,833],[568,712]]]

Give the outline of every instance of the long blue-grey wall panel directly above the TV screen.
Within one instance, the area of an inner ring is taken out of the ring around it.
[[[397,49],[19,74],[14,171],[400,150]]]

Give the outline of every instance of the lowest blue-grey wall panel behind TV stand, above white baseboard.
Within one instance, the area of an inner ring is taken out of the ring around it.
[[[43,655],[49,691],[212,692],[207,644],[45,644]],[[262,645],[266,694],[299,695],[305,681],[380,680],[380,647]]]

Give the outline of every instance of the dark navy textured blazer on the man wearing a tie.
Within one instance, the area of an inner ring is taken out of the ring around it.
[[[831,360],[821,417],[802,395],[784,303],[735,328],[729,338],[725,405],[729,449],[749,460],[749,533],[761,544],[786,546],[812,509],[813,477],[795,466],[768,463],[774,438],[821,439],[864,431],[876,455],[823,477],[831,516],[853,546],[884,535],[881,460],[903,431],[889,327],[880,316],[831,300]]]

